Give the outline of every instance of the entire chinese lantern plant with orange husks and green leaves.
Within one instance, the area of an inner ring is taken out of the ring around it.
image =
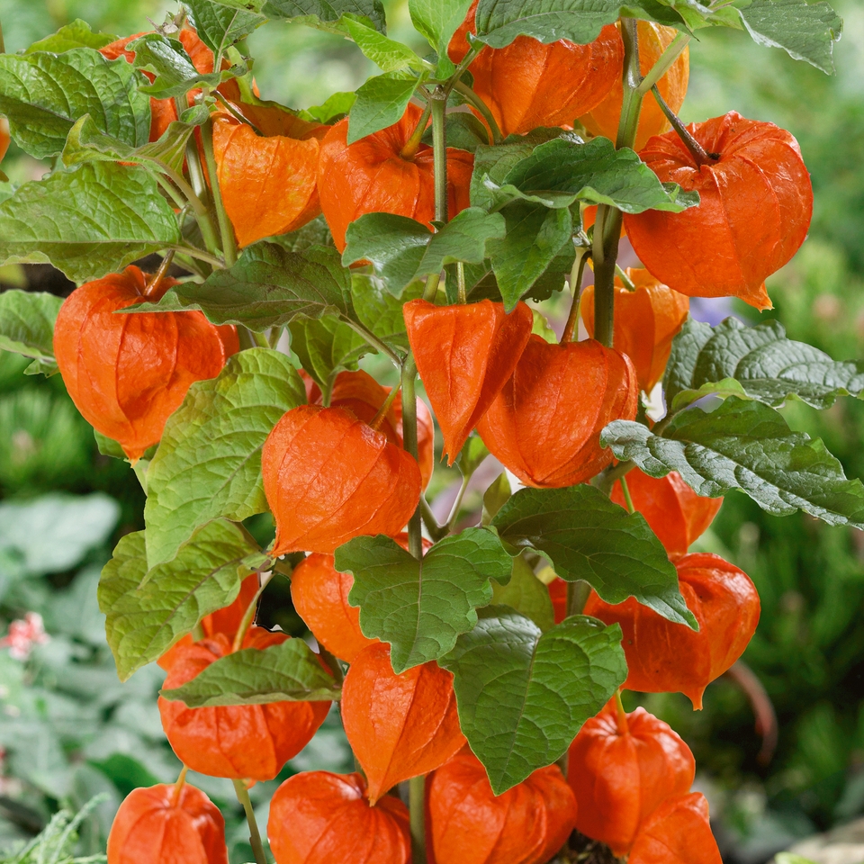
[[[0,347],[59,371],[134,464],[146,527],[103,570],[108,642],[121,680],[166,670],[168,741],[232,779],[257,864],[249,785],[334,701],[357,771],[275,792],[277,864],[545,864],[574,826],[632,861],[719,860],[687,745],[620,689],[698,705],[745,650],[752,581],[689,549],[726,493],[864,527],[860,481],[777,410],[860,395],[864,364],[688,318],[690,296],[768,307],[812,207],[789,132],[679,120],[689,43],[743,28],[831,72],[842,22],[793,5],[409,0],[421,57],[376,0],[187,0],[135,38],[0,56],[12,138],[53,160],[0,202],[0,263],[79,285],[59,314],[0,294]],[[245,37],[292,18],[382,74],[309,112],[266,101]],[[622,226],[642,268],[617,266]],[[490,454],[522,488],[500,473],[469,512]],[[436,501],[443,457],[463,480]],[[244,521],[267,512],[261,548]],[[257,626],[275,578],[308,643]],[[112,864],[162,860],[157,829],[224,860],[184,776],[127,799]]]

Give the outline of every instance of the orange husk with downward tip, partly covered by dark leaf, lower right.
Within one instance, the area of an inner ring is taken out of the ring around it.
[[[672,624],[632,597],[610,606],[592,592],[585,615],[621,625],[626,689],[683,693],[698,710],[708,684],[743,654],[756,632],[759,594],[745,572],[719,555],[685,555],[675,566],[698,633]]]

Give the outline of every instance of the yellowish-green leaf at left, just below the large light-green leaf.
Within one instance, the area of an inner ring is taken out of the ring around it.
[[[196,532],[173,561],[148,570],[144,532],[122,537],[99,581],[120,680],[158,660],[202,617],[229,606],[247,574],[239,564],[254,551],[245,532],[220,520]]]

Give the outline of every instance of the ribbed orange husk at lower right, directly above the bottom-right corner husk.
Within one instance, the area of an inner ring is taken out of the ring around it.
[[[667,798],[689,792],[695,774],[690,748],[669,725],[642,707],[619,717],[610,703],[570,748],[576,828],[626,855],[639,826]]]

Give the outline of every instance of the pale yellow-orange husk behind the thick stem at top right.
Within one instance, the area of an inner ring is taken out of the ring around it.
[[[636,25],[639,32],[639,66],[642,74],[647,75],[653,65],[666,50],[678,31],[673,27],[663,27],[653,21],[640,21]],[[580,117],[581,124],[593,135],[605,135],[615,140],[618,134],[618,121],[621,119],[621,103],[624,100],[622,85],[624,73],[624,54],[614,73],[615,82],[606,97],[590,112]],[[666,103],[676,114],[680,111],[687,95],[687,85],[690,77],[690,49],[685,48],[671,65],[667,73],[657,82],[657,89]],[[652,135],[661,135],[671,129],[666,115],[652,94],[648,94],[642,103],[639,113],[639,125],[636,128],[635,150],[644,148]]]

